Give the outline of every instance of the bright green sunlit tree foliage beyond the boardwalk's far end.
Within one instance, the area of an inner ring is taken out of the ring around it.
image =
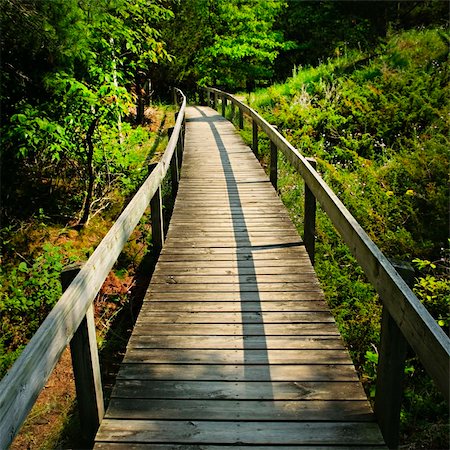
[[[280,50],[292,45],[274,27],[280,0],[194,0],[174,5],[164,37],[176,55],[169,77],[177,82],[254,85],[273,76]]]

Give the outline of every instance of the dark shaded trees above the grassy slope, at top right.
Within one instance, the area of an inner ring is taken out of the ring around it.
[[[388,1],[287,1],[277,26],[296,45],[281,52],[278,77],[290,75],[299,64],[318,64],[329,57],[346,58],[358,49],[371,51],[386,32],[425,25],[448,27],[448,4]],[[432,47],[430,42],[430,47]],[[406,59],[397,53],[398,64]]]

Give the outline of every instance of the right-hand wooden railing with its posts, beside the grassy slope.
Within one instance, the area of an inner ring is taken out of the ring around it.
[[[275,188],[278,150],[302,176],[306,185],[304,242],[312,260],[315,223],[312,217],[315,215],[314,201],[311,198],[313,196],[319,201],[378,292],[383,303],[383,313],[374,409],[386,444],[390,448],[396,448],[407,343],[416,352],[448,402],[450,339],[308,160],[249,106],[218,89],[203,88],[203,92],[206,92],[207,104],[213,108],[217,109],[221,100],[224,116],[227,102],[230,102],[232,117],[235,116],[237,107],[239,128],[244,126],[244,115],[251,120],[252,148],[256,155],[258,130],[266,133],[271,143],[270,178]]]

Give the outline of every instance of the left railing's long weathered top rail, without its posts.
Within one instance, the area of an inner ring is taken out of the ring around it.
[[[92,305],[109,271],[143,216],[182,147],[186,97],[163,157],[145,180],[107,235],[68,286],[0,382],[0,448],[6,449],[20,430],[59,358]]]

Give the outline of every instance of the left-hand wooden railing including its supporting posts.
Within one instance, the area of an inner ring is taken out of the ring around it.
[[[149,204],[153,249],[163,246],[161,183],[170,168],[175,195],[184,145],[186,98],[176,93],[181,106],[163,157],[0,382],[0,449],[13,441],[69,343],[82,432],[88,440],[95,436],[104,403],[93,301]]]

